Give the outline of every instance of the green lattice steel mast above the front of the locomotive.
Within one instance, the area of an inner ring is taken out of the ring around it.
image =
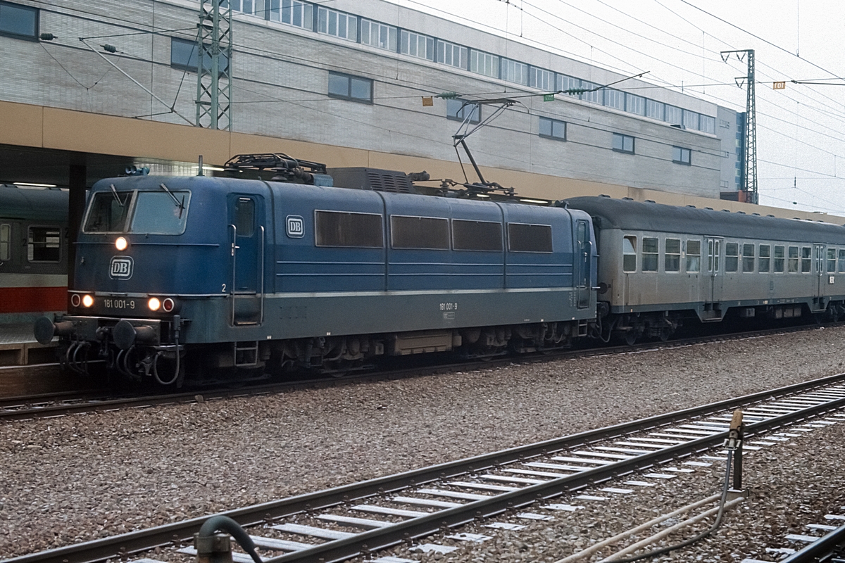
[[[232,130],[232,3],[199,0],[197,127]]]

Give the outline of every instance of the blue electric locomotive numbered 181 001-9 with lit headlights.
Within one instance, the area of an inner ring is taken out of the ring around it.
[[[97,182],[68,314],[39,319],[36,338],[58,335],[76,370],[99,356],[179,385],[342,373],[386,355],[553,349],[596,318],[584,211],[472,185],[415,187],[392,171],[330,175],[283,154],[240,155],[226,169],[234,177]]]

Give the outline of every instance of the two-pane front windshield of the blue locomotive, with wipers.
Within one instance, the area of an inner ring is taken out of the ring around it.
[[[190,192],[97,192],[85,220],[86,233],[132,232],[181,235]]]

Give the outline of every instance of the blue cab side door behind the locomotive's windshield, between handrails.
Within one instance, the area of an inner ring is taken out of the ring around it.
[[[264,321],[264,198],[229,196],[232,325]]]

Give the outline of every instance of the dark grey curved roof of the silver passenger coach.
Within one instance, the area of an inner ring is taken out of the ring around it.
[[[570,208],[582,209],[598,219],[600,229],[845,244],[845,227],[831,223],[592,196],[565,201]]]

